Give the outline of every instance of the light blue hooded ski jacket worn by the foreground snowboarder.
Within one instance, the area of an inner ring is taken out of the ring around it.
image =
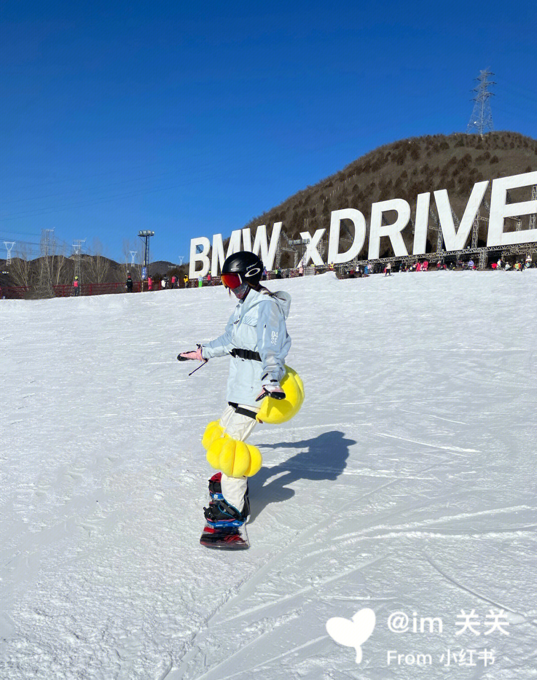
[[[284,360],[291,347],[285,326],[290,306],[289,293],[250,290],[246,299],[238,302],[223,335],[201,345],[205,359],[227,356],[233,349],[251,350],[261,356],[261,361],[231,356],[227,401],[259,407],[255,398],[261,386],[272,379],[282,379]]]

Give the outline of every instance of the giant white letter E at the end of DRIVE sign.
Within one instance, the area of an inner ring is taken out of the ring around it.
[[[537,171],[502,177],[492,180],[491,212],[489,216],[489,234],[487,245],[516,245],[517,243],[536,243],[537,229],[508,231],[504,234],[504,218],[515,215],[532,215],[537,213],[537,201],[523,201],[506,205],[506,191],[521,186],[537,184]]]

